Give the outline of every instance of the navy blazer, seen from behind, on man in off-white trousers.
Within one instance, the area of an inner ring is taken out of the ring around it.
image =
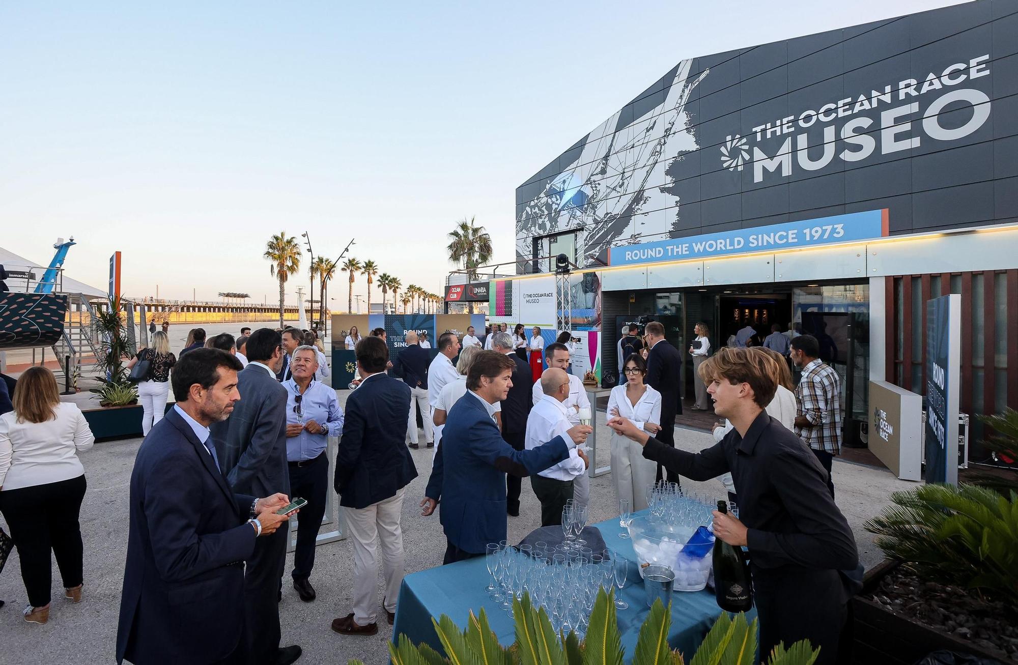
[[[350,392],[333,480],[340,505],[365,508],[395,496],[417,477],[406,447],[409,414],[410,388],[385,374]]]

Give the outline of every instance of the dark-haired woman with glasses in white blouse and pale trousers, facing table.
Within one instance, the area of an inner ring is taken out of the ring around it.
[[[631,354],[622,368],[626,382],[612,388],[608,417],[621,416],[652,436],[661,431],[661,392],[643,382],[646,363]],[[638,443],[612,433],[612,480],[615,497],[629,501],[632,509],[646,507],[646,486],[654,484],[658,465],[643,457]]]

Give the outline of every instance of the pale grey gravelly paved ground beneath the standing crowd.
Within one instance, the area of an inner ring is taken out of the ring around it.
[[[603,423],[604,414],[600,415]],[[604,456],[599,461],[606,464],[608,433],[603,425],[599,434],[599,457]],[[679,429],[676,438],[687,449],[698,449],[712,441],[703,432],[686,429]],[[140,439],[97,443],[93,450],[81,456],[89,481],[81,509],[86,553],[84,601],[81,604],[63,603],[60,579],[54,565],[54,601],[49,623],[43,626],[24,623],[20,609],[27,601],[18,573],[17,553],[11,554],[6,569],[0,575],[0,599],[7,601],[7,605],[0,608],[0,636],[3,636],[0,662],[4,665],[113,662],[126,555],[127,485],[139,444]],[[409,498],[403,508],[407,571],[439,564],[445,550],[445,537],[438,517],[422,518],[416,505],[427,483],[432,451],[415,450],[413,458],[421,475],[410,485]],[[846,463],[836,463],[834,475],[838,503],[856,534],[863,561],[872,565],[881,559],[881,554],[862,530],[862,522],[888,502],[891,491],[912,485],[895,479],[888,471]],[[684,483],[723,496],[718,481]],[[591,522],[617,513],[610,474],[593,479],[590,494]],[[518,541],[539,526],[539,503],[529,484],[524,482],[523,509],[519,518],[509,519],[509,538]],[[350,658],[360,658],[365,663],[388,661],[386,642],[391,634],[384,619],[379,633],[372,638],[341,637],[329,628],[334,617],[350,611],[351,561],[352,550],[348,542],[322,545],[312,578],[318,600],[302,603],[291,587],[284,588],[280,605],[283,643],[303,647],[300,663],[346,663]],[[289,570],[288,561],[287,575]],[[379,611],[381,614],[381,608]]]

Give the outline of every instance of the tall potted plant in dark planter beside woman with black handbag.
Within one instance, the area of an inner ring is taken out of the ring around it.
[[[123,362],[124,357],[134,355],[135,348],[127,339],[119,297],[108,308],[97,308],[92,327],[99,340],[95,367],[103,375],[100,387],[91,390],[100,408],[83,410],[84,418],[96,438],[136,436],[142,433],[143,409],[137,404],[137,386],[127,379]]]

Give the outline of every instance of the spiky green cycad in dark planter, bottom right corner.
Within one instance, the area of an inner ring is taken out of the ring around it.
[[[948,649],[1018,663],[1018,494],[923,485],[891,498],[865,523],[888,560],[853,600],[856,655],[913,663]]]

